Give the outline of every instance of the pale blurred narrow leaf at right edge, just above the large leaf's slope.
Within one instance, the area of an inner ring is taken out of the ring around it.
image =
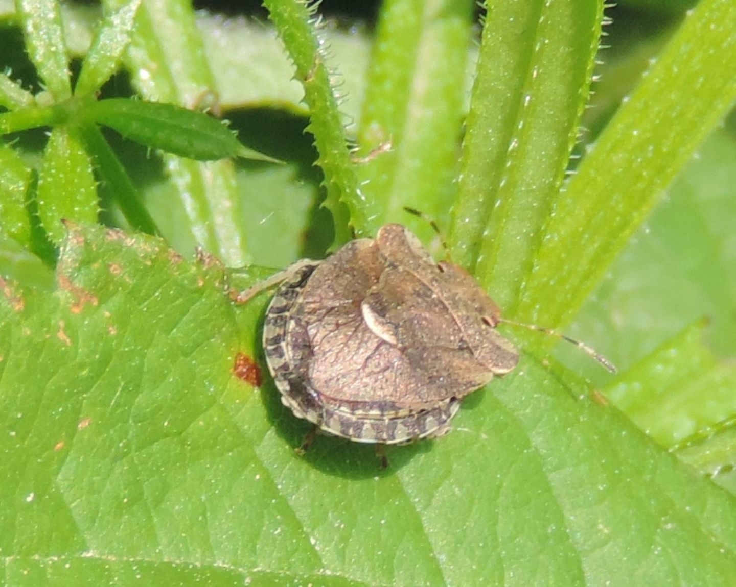
[[[606,389],[606,395],[657,442],[671,447],[736,417],[736,366],[721,363],[691,325]]]

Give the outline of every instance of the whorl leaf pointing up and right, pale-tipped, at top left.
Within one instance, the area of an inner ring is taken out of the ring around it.
[[[135,14],[141,0],[131,0],[120,10],[107,15],[92,41],[92,46],[82,62],[74,93],[91,95],[115,73],[123,51],[130,43]]]

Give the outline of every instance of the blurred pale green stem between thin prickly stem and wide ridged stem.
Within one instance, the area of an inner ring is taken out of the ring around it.
[[[381,7],[356,166],[367,209],[367,232],[386,222],[432,236],[419,209],[444,223],[457,173],[465,80],[470,68],[473,0],[392,0]],[[386,151],[386,147],[390,149]],[[381,149],[385,152],[370,154]]]

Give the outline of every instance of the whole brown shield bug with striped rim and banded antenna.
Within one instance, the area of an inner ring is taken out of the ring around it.
[[[473,277],[435,262],[399,224],[235,299],[279,283],[263,327],[269,371],[285,406],[336,436],[376,444],[441,436],[463,397],[519,361],[495,329],[505,321],[498,306]]]

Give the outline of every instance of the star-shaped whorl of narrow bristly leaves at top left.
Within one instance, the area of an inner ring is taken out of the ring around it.
[[[39,172],[37,197],[40,227],[55,244],[62,236],[63,219],[96,220],[99,204],[91,156],[99,174],[110,184],[116,198],[121,199],[120,209],[128,223],[139,230],[158,233],[123,166],[92,123],[111,126],[144,145],[191,159],[244,156],[272,160],[244,148],[219,122],[200,113],[173,104],[93,99],[93,94],[115,73],[130,43],[140,4],[140,0],[121,4],[102,22],[82,62],[74,96],[60,4],[54,0],[18,0],[15,4],[24,29],[26,51],[47,93],[34,99],[4,75],[0,84],[2,104],[10,111],[0,114],[0,132],[10,134],[38,126],[54,128]]]

